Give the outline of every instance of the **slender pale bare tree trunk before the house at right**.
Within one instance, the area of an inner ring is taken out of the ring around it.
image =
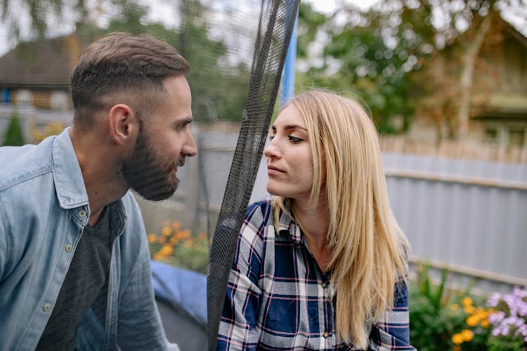
[[[493,11],[490,10],[487,17],[481,22],[474,36],[474,40],[471,41],[463,56],[463,70],[460,79],[460,107],[457,110],[457,138],[460,140],[466,140],[469,134],[470,98],[472,95],[472,83],[474,81],[474,66],[476,65],[476,59],[483,45],[483,40],[488,29],[490,29],[492,18]]]

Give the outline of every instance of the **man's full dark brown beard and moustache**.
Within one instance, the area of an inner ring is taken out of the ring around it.
[[[179,180],[174,168],[183,166],[184,163],[184,157],[166,164],[161,159],[156,159],[146,133],[141,131],[134,152],[123,163],[122,174],[129,187],[141,197],[161,201],[171,197],[178,188]]]

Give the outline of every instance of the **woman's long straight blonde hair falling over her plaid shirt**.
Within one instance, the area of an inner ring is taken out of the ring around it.
[[[389,205],[377,131],[358,102],[334,93],[308,91],[289,105],[308,130],[311,199],[318,199],[324,183],[327,191],[320,201],[329,208],[326,244],[337,287],[337,337],[365,348],[372,324],[393,307],[396,282],[406,279],[410,247]],[[285,211],[285,201],[274,197],[275,220]]]

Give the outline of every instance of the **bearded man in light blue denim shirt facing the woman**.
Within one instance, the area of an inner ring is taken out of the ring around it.
[[[86,48],[73,124],[0,148],[0,350],[178,350],[150,282],[141,212],[196,153],[188,63],[150,36]]]

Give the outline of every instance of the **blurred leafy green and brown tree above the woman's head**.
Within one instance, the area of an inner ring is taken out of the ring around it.
[[[381,133],[407,130],[414,115],[430,119],[438,139],[467,136],[474,67],[483,65],[483,43],[499,45],[500,11],[527,13],[524,0],[381,0],[367,10],[339,4],[324,18],[306,5],[299,12],[299,43],[324,47],[318,61],[303,57],[300,84],[358,95]],[[495,84],[482,83],[479,91]]]

